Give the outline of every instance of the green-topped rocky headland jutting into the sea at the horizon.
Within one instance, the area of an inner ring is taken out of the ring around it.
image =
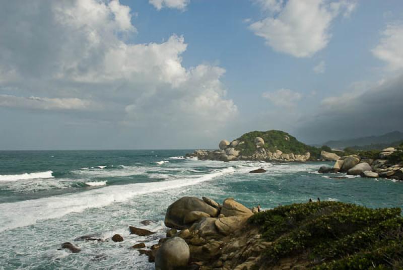
[[[251,131],[229,142],[222,140],[219,150],[196,150],[187,157],[220,161],[306,162],[319,158],[320,149],[299,142],[280,130]]]

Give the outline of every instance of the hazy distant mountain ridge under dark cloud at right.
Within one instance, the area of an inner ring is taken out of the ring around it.
[[[370,149],[379,149],[383,146],[391,146],[397,142],[403,141],[403,132],[392,131],[381,136],[369,136],[349,140],[328,141],[323,145],[335,149],[344,149],[346,147],[365,147]]]

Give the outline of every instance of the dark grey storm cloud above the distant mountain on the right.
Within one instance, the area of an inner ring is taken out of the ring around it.
[[[401,130],[401,115],[403,75],[378,82],[359,82],[341,95],[323,99],[316,114],[305,115],[299,121],[296,133],[305,141],[316,144],[382,134]]]

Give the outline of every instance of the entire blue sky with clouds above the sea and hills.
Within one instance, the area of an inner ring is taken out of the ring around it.
[[[400,0],[0,4],[0,150],[403,131]]]

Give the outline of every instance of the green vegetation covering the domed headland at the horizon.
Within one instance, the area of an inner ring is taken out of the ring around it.
[[[254,143],[256,137],[262,138],[264,140],[264,149],[271,152],[276,152],[277,149],[285,154],[304,155],[306,152],[309,152],[312,157],[316,158],[321,151],[316,147],[299,142],[295,137],[280,130],[251,131],[245,133],[237,139],[238,142],[244,143],[239,144],[236,149],[244,156],[253,154],[256,151]]]

